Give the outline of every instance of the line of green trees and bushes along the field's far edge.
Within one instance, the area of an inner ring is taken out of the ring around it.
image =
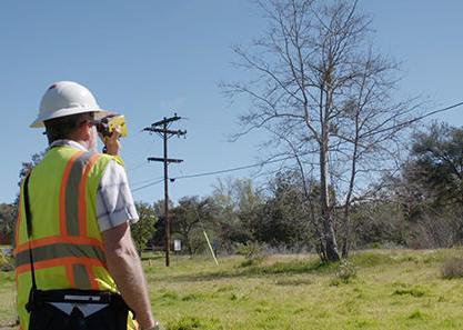
[[[463,129],[432,124],[413,134],[410,153],[395,173],[365,186],[369,193],[351,204],[351,249],[449,248],[463,239]],[[372,187],[374,189],[372,189]],[[309,189],[309,194],[308,190]],[[274,251],[320,251],[320,184],[303,182],[300,172],[276,172],[256,189],[251,180],[220,180],[211,196],[184,197],[171,206],[172,238],[183,252],[213,248],[233,253],[242,244],[265,244]],[[331,198],[340,200],[331,190]],[[334,231],[343,231],[342,204],[333,203]],[[147,204],[144,204],[147,207]],[[163,201],[151,207],[159,221],[151,242],[164,241]],[[341,237],[341,236],[340,236]],[[341,241],[340,243],[344,243]]]

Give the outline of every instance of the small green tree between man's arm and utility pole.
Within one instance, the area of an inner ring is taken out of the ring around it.
[[[141,251],[147,248],[148,241],[154,236],[158,218],[154,208],[149,203],[135,202],[135,207],[140,220],[132,224],[130,229],[137,250],[141,256]]]

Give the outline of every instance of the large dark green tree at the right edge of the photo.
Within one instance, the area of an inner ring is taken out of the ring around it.
[[[409,244],[463,242],[463,129],[432,123],[412,137],[410,158],[390,179],[410,226]]]

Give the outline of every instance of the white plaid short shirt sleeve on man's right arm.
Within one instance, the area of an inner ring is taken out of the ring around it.
[[[97,192],[97,218],[100,231],[127,221],[135,223],[139,220],[125,170],[114,160],[108,163],[100,180]]]

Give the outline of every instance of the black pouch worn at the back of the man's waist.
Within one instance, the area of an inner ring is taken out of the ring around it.
[[[129,313],[120,294],[94,290],[31,289],[27,309],[29,330],[127,330]]]

